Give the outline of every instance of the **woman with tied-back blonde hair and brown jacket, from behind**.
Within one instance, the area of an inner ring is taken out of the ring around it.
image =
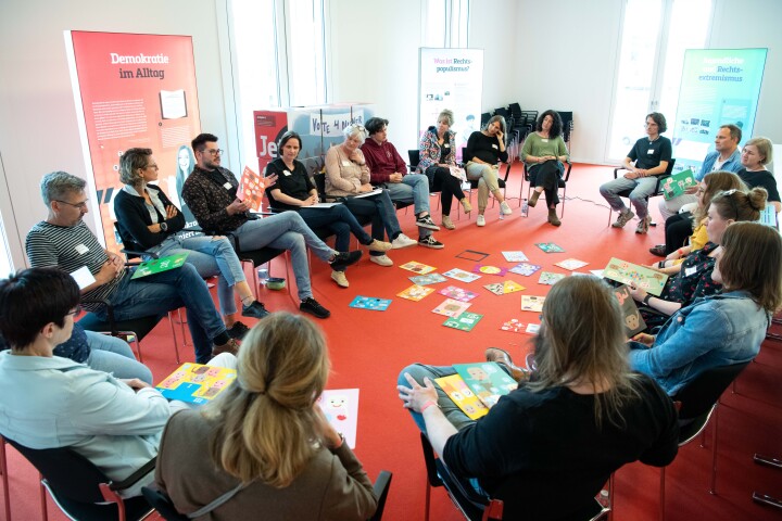
[[[369,518],[371,483],[315,404],[329,368],[326,341],[308,319],[261,320],[239,350],[237,381],[166,425],[155,482],[176,509],[192,513],[234,492],[210,519]]]

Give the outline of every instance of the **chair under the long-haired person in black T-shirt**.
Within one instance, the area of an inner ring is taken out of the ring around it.
[[[421,447],[424,448],[424,462],[427,469],[426,512],[424,519],[429,521],[431,488],[442,486],[445,488],[451,501],[468,521],[502,520],[504,503],[501,499],[488,498],[478,494],[469,482],[453,475],[442,459],[434,454],[427,435],[421,433],[420,436]],[[584,512],[584,521],[596,521],[611,511],[613,486],[614,474],[608,480],[607,488],[601,491],[600,499],[595,498],[594,508],[590,512]]]

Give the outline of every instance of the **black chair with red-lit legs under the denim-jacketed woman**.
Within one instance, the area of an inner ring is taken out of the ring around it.
[[[680,389],[671,399],[679,409],[679,446],[682,447],[695,440],[714,416],[711,432],[711,481],[709,493],[716,494],[717,485],[717,433],[719,398],[726,389],[739,378],[749,361],[715,367],[702,372],[690,383]],[[702,444],[703,446],[703,444]],[[660,469],[660,520],[665,519],[665,475],[666,468]]]

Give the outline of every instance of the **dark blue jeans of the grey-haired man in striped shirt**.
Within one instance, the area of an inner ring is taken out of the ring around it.
[[[212,340],[226,333],[206,282],[189,264],[135,280],[128,275],[109,300],[114,305],[117,320],[163,315],[185,306],[199,364],[206,364],[212,357]],[[96,315],[106,319],[104,309]]]

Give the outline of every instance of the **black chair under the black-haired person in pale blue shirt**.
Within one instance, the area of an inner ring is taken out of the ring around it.
[[[102,470],[71,447],[35,449],[13,440],[5,440],[41,474],[41,509],[45,520],[47,501],[43,488],[49,491],[63,513],[79,521],[135,521],[144,519],[154,511],[143,497],[123,499],[119,493],[154,471],[155,459],[122,482],[113,482]]]

